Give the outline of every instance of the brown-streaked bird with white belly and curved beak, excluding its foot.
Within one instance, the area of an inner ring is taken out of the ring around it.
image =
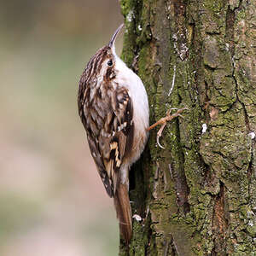
[[[79,116],[97,172],[119,218],[126,244],[132,236],[129,170],[148,141],[148,95],[142,80],[115,52],[115,40],[90,58],[79,80]]]

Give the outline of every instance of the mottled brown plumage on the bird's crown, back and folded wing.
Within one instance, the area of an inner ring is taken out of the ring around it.
[[[112,197],[121,161],[129,147],[126,142],[132,141],[134,127],[128,91],[111,81],[115,76],[113,67],[107,69],[103,81],[99,82],[96,77],[101,62],[109,58],[113,56],[107,46],[100,49],[85,68],[79,83],[79,114],[87,131],[90,152],[108,195]]]

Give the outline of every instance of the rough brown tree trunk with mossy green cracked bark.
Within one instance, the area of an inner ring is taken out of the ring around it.
[[[120,6],[123,59],[146,86],[150,123],[189,110],[166,125],[165,149],[151,131],[131,170],[132,210],[143,220],[119,255],[256,255],[255,1]]]

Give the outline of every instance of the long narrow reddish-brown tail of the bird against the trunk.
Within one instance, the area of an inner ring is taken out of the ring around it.
[[[130,199],[125,184],[119,183],[115,195],[113,195],[113,202],[117,218],[119,218],[120,234],[125,239],[126,245],[128,245],[132,235],[132,221]]]

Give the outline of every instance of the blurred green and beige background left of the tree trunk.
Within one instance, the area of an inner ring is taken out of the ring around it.
[[[77,90],[122,20],[118,1],[1,1],[1,256],[118,254]]]

